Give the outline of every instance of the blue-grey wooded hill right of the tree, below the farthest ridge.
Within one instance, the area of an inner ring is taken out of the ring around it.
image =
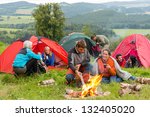
[[[128,15],[114,10],[101,10],[68,19],[70,24],[93,24],[109,28],[150,28],[150,15]]]

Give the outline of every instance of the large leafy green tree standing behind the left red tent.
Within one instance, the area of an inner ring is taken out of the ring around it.
[[[59,41],[63,37],[65,17],[58,3],[39,5],[33,12],[36,33]]]

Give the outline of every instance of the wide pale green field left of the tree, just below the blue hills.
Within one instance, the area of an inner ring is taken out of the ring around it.
[[[28,24],[34,22],[32,16],[2,16],[0,24]]]

